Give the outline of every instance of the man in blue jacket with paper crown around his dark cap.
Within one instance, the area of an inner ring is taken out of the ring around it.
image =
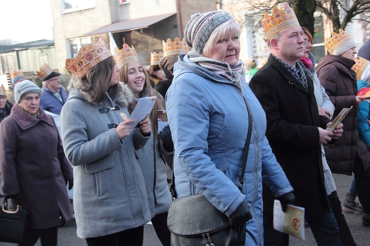
[[[36,74],[42,81],[40,107],[43,110],[60,115],[68,98],[66,90],[60,85],[60,73],[54,72],[48,64],[44,63]]]

